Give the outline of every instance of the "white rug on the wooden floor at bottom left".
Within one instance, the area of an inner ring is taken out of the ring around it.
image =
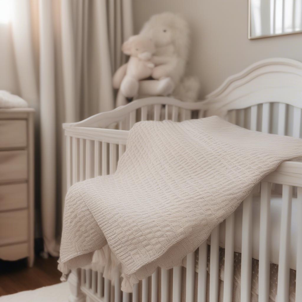
[[[45,286],[33,291],[20,291],[17,294],[0,297],[0,302],[68,302],[69,284]]]

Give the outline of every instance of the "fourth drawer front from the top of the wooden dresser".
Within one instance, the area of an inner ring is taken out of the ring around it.
[[[28,241],[28,211],[0,213],[0,246]]]

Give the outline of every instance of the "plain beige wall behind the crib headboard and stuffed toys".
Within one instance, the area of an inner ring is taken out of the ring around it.
[[[182,14],[192,30],[188,73],[199,76],[201,97],[227,76],[265,58],[286,57],[302,62],[302,34],[248,40],[248,0],[133,0],[134,29],[149,16]]]

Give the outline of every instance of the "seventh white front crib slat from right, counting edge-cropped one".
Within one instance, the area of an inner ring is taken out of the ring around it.
[[[198,251],[198,296],[197,302],[206,302],[207,294],[207,241]]]

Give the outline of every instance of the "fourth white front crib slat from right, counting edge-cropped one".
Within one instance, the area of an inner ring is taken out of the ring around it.
[[[252,282],[252,194],[243,201],[241,252],[240,301],[250,302]]]

